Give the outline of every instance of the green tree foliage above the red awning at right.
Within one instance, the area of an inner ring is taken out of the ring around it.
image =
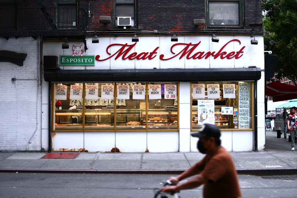
[[[274,40],[271,46],[269,39],[264,44],[278,55],[277,79],[297,80],[297,0],[262,0],[263,28],[267,37]],[[268,50],[268,48],[266,50]]]

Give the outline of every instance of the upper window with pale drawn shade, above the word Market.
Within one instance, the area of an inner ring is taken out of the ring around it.
[[[208,0],[208,26],[242,26],[241,0]]]

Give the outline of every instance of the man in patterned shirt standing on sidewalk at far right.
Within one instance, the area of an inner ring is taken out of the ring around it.
[[[287,129],[290,131],[291,134],[291,150],[295,150],[295,137],[297,137],[297,115],[296,115],[297,108],[291,107],[290,114],[287,117]]]

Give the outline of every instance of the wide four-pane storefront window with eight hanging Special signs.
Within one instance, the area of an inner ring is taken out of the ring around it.
[[[177,130],[177,89],[164,82],[56,83],[53,130]]]

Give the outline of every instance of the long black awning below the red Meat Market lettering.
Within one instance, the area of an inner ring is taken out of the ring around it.
[[[52,82],[190,82],[259,80],[261,69],[96,69],[45,70],[44,80]]]

